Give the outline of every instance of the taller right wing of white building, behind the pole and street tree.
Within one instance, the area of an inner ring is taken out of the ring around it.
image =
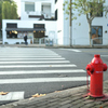
[[[57,40],[58,44],[69,45],[69,17],[63,12],[63,3],[65,0],[55,0],[55,10],[57,10]],[[75,0],[71,0],[75,1]],[[70,0],[68,0],[70,2]],[[108,5],[108,0],[103,5]],[[90,45],[89,24],[85,15],[78,16],[78,12],[72,12],[77,15],[77,19],[71,23],[71,45]],[[107,14],[108,17],[108,14]],[[79,26],[79,24],[81,24]],[[97,35],[96,35],[97,33]],[[105,12],[97,15],[92,23],[92,44],[108,45],[108,18],[105,17]]]

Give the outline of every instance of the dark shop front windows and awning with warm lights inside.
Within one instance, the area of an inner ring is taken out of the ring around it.
[[[44,24],[33,24],[33,28],[17,28],[17,24],[6,24],[6,39],[17,39],[23,40],[25,33],[27,33],[30,44],[39,44],[39,40],[46,38]],[[18,43],[18,42],[17,42]],[[19,44],[23,44],[22,41]]]

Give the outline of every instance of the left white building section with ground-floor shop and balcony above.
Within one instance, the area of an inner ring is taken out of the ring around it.
[[[54,0],[21,0],[21,19],[3,19],[3,44],[22,44],[27,33],[28,44],[41,44],[46,39],[56,44],[56,12]]]

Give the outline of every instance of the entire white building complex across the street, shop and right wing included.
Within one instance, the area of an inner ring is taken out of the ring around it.
[[[3,44],[21,44],[27,32],[28,44],[45,44],[48,40],[53,40],[58,45],[69,45],[70,41],[71,45],[90,45],[85,15],[72,21],[70,40],[69,19],[66,19],[67,15],[63,11],[64,2],[65,0],[21,0],[21,19],[3,19]],[[104,5],[106,4],[107,0]],[[93,19],[91,42],[108,44],[108,18],[104,12]]]

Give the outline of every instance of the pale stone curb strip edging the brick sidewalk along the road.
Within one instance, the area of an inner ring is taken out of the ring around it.
[[[14,102],[14,103],[10,103],[10,104],[6,104],[6,105],[2,105],[0,106],[0,108],[14,108],[16,106],[24,106],[24,105],[31,105],[31,104],[35,104],[36,102],[38,100],[42,100],[42,99],[46,99],[46,98],[56,98],[56,97],[65,97],[65,96],[68,96],[68,95],[73,95],[78,92],[83,92],[83,93],[86,93],[86,85],[83,85],[83,86],[79,86],[79,87],[73,87],[73,89],[68,89],[68,90],[64,90],[64,91],[59,91],[57,93],[49,93],[46,94],[45,96],[42,96],[42,97],[36,97],[36,98],[32,98],[32,99],[22,99],[22,100],[18,100],[18,102]]]

